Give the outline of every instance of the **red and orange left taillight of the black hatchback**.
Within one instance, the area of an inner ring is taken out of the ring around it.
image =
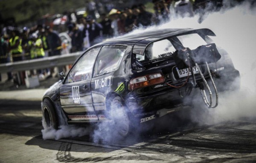
[[[165,82],[165,78],[161,73],[154,73],[146,76],[131,79],[129,90],[148,87],[150,85],[161,84]]]

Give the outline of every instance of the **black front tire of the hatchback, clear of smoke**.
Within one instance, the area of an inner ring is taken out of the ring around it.
[[[47,98],[43,101],[42,112],[44,123],[47,128],[58,129],[57,118],[54,108],[52,107],[51,102]]]

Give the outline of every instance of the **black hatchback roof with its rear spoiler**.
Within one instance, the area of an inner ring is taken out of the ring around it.
[[[143,30],[138,30],[121,37],[116,37],[113,39],[109,39],[105,42],[101,42],[97,44],[97,46],[114,45],[119,43],[122,43],[122,44],[132,43],[134,44],[133,53],[144,54],[145,48],[151,42],[156,42],[158,40],[165,39],[167,37],[172,37],[178,34],[196,33],[198,31],[208,36],[215,36],[215,34],[210,29],[207,29],[207,28],[201,28],[201,29],[165,28],[165,29],[146,30],[145,32]]]

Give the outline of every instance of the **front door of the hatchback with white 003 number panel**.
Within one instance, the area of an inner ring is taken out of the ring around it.
[[[61,107],[69,114],[94,112],[90,82],[100,48],[84,53],[71,68],[60,88]]]

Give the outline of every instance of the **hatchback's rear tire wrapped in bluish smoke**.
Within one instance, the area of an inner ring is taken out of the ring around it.
[[[115,131],[122,137],[131,132],[131,121],[127,113],[127,107],[121,97],[116,96],[110,102],[110,115]]]

